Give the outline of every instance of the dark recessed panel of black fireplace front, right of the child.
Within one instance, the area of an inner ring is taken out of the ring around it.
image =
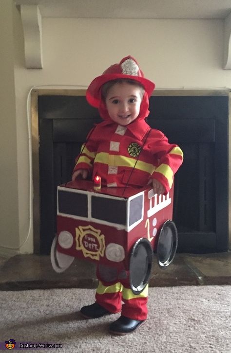
[[[215,232],[213,144],[182,144],[184,163],[175,177],[173,218],[179,232]]]

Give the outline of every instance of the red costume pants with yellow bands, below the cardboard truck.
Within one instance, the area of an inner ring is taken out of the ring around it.
[[[111,313],[121,311],[121,315],[127,318],[135,320],[145,320],[147,318],[148,284],[142,293],[135,295],[131,290],[129,277],[127,275],[122,276],[126,277],[124,279],[115,279],[114,275],[112,276],[114,277],[113,280],[109,281],[107,279],[107,281],[105,281],[105,278],[108,276],[102,275],[102,271],[99,271],[99,267],[97,268],[96,274],[99,280],[96,289],[96,302],[99,305]]]

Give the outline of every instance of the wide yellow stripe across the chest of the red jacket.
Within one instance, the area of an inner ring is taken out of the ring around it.
[[[113,165],[116,167],[130,167],[133,168],[135,166],[136,159],[124,157],[124,156],[117,156],[117,155],[110,155],[106,152],[100,152],[96,155],[95,162]],[[144,172],[148,172],[153,174],[155,167],[151,163],[146,163],[141,160],[138,160],[135,166],[135,169],[140,169]]]

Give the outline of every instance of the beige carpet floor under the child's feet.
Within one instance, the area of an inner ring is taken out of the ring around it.
[[[124,336],[108,331],[119,314],[79,316],[94,297],[94,289],[0,291],[0,349],[13,338],[14,351],[19,342],[42,342],[62,348],[37,352],[231,353],[229,285],[150,288],[148,320]]]

